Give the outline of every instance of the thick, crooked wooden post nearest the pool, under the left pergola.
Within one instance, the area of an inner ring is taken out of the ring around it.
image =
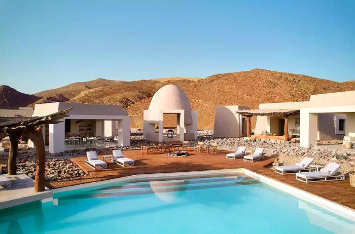
[[[42,192],[45,190],[46,171],[46,151],[43,141],[42,129],[40,126],[38,126],[32,130],[27,130],[26,135],[34,143],[37,152],[34,191]]]

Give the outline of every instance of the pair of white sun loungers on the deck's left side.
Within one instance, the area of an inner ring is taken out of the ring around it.
[[[124,154],[122,153],[121,149],[116,149],[112,150],[113,155],[111,156],[111,162],[112,163],[117,163],[118,165],[124,167],[125,164],[128,164],[130,166],[134,166],[134,160],[128,159],[124,157]],[[88,158],[85,160],[85,164],[90,166],[93,169],[106,169],[107,168],[107,163],[103,162],[102,160],[99,160],[97,158],[97,153],[96,151],[88,151],[86,152],[86,157]]]

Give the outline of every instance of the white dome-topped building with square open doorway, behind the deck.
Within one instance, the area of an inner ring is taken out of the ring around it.
[[[163,132],[164,113],[176,113],[177,126],[173,137]],[[159,132],[155,132],[156,124],[159,124]],[[192,110],[190,101],[182,89],[166,85],[154,94],[148,110],[144,110],[144,139],[160,142],[197,139],[197,111]]]

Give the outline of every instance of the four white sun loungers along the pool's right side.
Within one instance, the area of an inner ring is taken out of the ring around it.
[[[244,161],[255,162],[265,158],[264,149],[256,148],[255,152],[251,155],[245,155],[245,146],[240,146],[237,151],[228,153],[226,155],[227,159],[238,159],[243,157]],[[303,182],[317,182],[317,181],[333,181],[333,180],[344,180],[344,175],[336,175],[336,172],[340,169],[340,164],[337,163],[328,163],[324,168],[319,171],[311,171],[310,166],[313,163],[314,159],[304,158],[301,162],[296,163],[296,165],[290,166],[277,166],[274,171],[281,175],[287,174],[296,174],[296,179]]]

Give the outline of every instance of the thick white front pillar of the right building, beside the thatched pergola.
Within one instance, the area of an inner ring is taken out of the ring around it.
[[[318,114],[300,111],[300,146],[308,147],[317,144]]]

